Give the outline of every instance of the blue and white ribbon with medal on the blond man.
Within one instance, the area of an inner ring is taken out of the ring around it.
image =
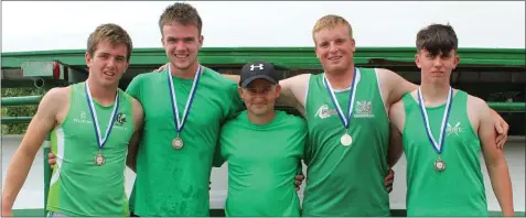
[[[331,86],[331,83],[329,79],[326,79],[325,74],[323,75],[323,85],[325,86],[325,89],[329,91],[329,96],[331,97],[332,103],[336,108],[337,116],[340,117],[340,120],[342,121],[344,128],[345,128],[345,133],[340,138],[340,142],[344,146],[348,146],[353,143],[353,138],[351,134],[348,134],[348,126],[351,123],[351,117],[353,113],[353,107],[354,107],[354,97],[356,95],[356,77],[357,77],[357,70],[354,70],[354,76],[353,76],[353,84],[352,84],[352,89],[350,90],[350,100],[348,100],[348,111],[346,115],[343,113],[342,107],[340,107],[340,103],[337,102],[337,98],[334,95],[334,89]]]

